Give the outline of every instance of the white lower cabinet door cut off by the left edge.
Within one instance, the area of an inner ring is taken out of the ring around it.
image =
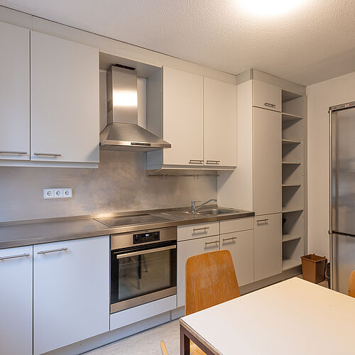
[[[32,354],[32,251],[32,246],[0,250],[1,354]]]

